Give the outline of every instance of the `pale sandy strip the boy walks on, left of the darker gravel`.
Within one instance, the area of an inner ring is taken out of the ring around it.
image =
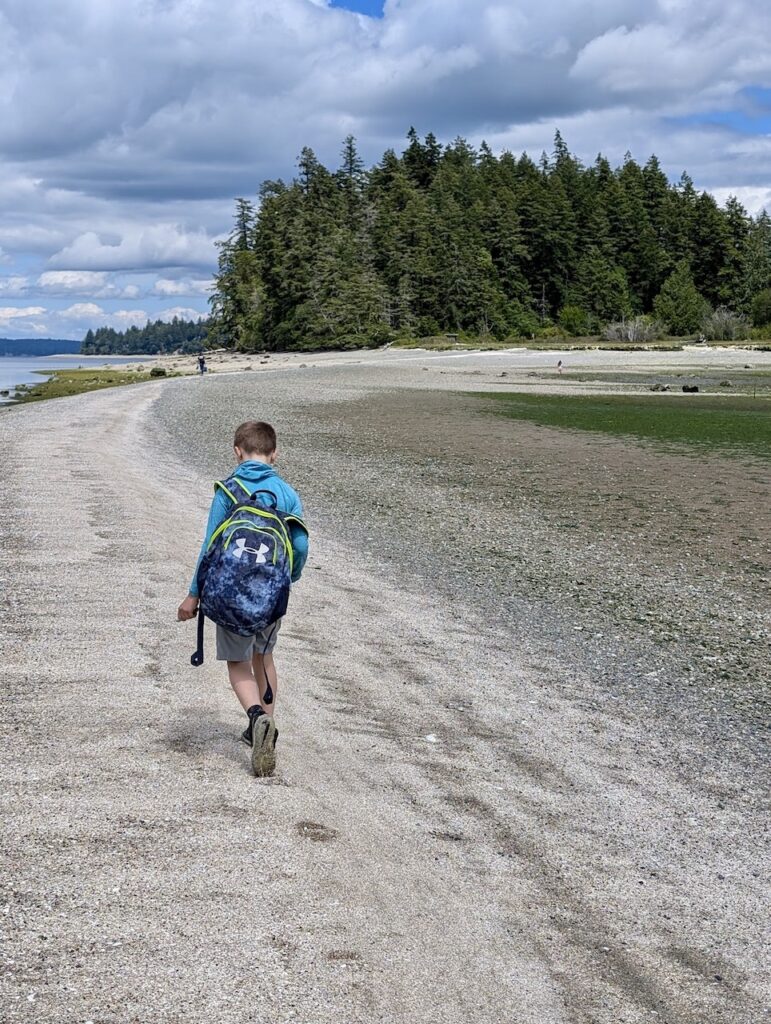
[[[339,538],[251,777],[173,621],[209,483],[152,446],[160,393],[2,422],[2,1019],[758,1021],[752,787]]]

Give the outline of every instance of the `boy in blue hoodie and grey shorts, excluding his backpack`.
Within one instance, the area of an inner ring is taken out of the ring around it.
[[[273,469],[276,438],[269,423],[242,423],[235,431],[233,452],[239,465],[228,479],[242,481],[250,494],[256,490],[269,492],[281,511],[302,516],[302,503],[297,493]],[[267,500],[269,501],[269,496]],[[259,501],[263,502],[264,498],[260,497]],[[230,499],[221,487],[217,487],[189,593],[177,609],[180,622],[195,618],[198,614],[198,568],[212,534],[228,517],[231,508]],[[291,541],[294,548],[292,582],[295,583],[300,579],[308,557],[308,536],[302,528],[292,524]],[[270,775],[275,767],[279,730],[273,721],[273,712],[277,678],[272,651],[281,624],[280,618],[262,633],[251,637],[239,636],[238,633],[217,626],[217,660],[227,662],[230,685],[249,718],[249,725],[241,738],[251,744],[255,775]]]

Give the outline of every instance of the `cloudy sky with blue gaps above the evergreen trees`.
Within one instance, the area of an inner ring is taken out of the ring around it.
[[[0,336],[208,310],[233,198],[412,125],[771,212],[767,0],[0,0]]]

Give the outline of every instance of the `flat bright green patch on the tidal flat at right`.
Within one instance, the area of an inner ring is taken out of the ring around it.
[[[471,392],[497,413],[547,427],[771,459],[771,399],[745,395],[555,395]]]

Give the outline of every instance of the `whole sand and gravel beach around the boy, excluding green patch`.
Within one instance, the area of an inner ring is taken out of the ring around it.
[[[765,1019],[769,464],[468,393],[600,386],[556,358],[223,356],[0,413],[3,1021]],[[311,525],[266,780],[174,621],[247,417]]]

